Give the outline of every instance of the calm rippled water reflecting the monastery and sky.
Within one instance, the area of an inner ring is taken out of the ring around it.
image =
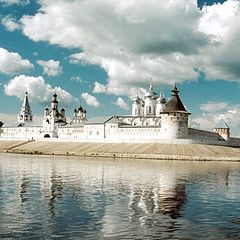
[[[1,239],[240,239],[240,163],[0,155]]]

